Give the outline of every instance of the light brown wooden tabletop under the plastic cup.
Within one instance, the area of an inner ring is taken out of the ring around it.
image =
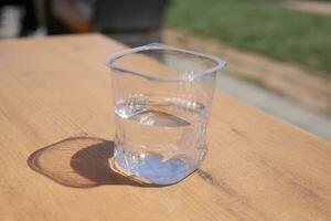
[[[0,220],[331,220],[331,144],[222,92],[209,154],[178,185],[103,182],[106,158],[70,144],[42,154],[50,177],[29,167],[32,152],[77,134],[111,139],[103,62],[122,49],[98,34],[0,42]]]

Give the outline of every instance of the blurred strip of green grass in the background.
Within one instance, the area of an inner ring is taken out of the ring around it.
[[[167,23],[331,74],[331,17],[258,0],[173,0]]]

